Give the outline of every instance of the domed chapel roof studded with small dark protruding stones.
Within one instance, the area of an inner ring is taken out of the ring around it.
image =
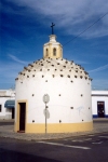
[[[35,78],[41,75],[44,78],[45,75],[52,75],[52,77],[68,77],[70,81],[73,78],[91,80],[89,73],[83,67],[73,63],[73,60],[67,60],[64,58],[43,58],[28,64],[24,67],[24,70],[18,73],[15,80],[23,81],[24,79]]]

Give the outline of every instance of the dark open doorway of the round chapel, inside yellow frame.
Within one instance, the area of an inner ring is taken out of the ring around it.
[[[19,103],[19,131],[25,132],[26,103]]]

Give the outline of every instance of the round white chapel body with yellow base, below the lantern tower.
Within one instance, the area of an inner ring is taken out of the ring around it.
[[[93,129],[91,79],[73,62],[44,58],[25,67],[16,79],[15,132],[19,131],[21,103],[25,103],[25,132],[67,133]]]

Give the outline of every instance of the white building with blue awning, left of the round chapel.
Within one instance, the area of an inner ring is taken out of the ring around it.
[[[14,119],[15,91],[0,90],[0,119]]]

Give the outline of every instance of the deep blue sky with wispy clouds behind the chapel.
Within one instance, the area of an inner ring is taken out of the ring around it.
[[[84,67],[93,90],[108,90],[108,0],[1,0],[0,90],[42,58],[52,23],[63,57]]]

